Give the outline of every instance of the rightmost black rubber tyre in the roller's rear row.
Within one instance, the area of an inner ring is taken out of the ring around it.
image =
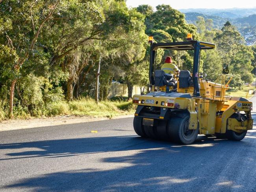
[[[189,116],[185,116],[184,118],[171,118],[167,125],[168,134],[171,140],[185,145],[195,142],[198,135],[198,129],[189,130],[188,125]]]

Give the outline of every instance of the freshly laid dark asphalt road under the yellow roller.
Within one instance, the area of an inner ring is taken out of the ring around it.
[[[138,137],[132,121],[0,132],[0,191],[256,192],[256,129],[182,146]]]

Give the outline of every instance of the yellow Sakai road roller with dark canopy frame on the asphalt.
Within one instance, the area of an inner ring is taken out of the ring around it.
[[[216,82],[199,73],[200,52],[215,48],[201,41],[154,43],[149,38],[150,62],[148,94],[134,95],[137,105],[134,130],[141,137],[192,144],[198,134],[217,138],[242,140],[252,129],[252,102],[245,98],[226,96],[232,76],[228,65]],[[158,49],[193,51],[193,70],[165,74],[156,69]]]

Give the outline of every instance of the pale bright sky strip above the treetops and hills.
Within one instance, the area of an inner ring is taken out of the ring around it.
[[[159,4],[167,4],[174,9],[207,8],[207,9],[226,9],[226,8],[253,8],[256,7],[256,0],[127,0],[128,7],[137,7],[148,4],[156,7]]]

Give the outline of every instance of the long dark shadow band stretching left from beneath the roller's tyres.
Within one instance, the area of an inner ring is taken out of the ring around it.
[[[217,141],[216,138],[198,137],[198,140],[196,142],[197,145],[205,144],[204,139],[207,139],[208,142]],[[74,138],[62,140],[45,140],[36,142],[0,144],[0,150],[24,148],[26,149],[26,151],[6,154],[8,156],[11,156],[10,158],[7,159],[20,159],[32,157],[55,158],[63,157],[65,155],[70,156],[87,153],[104,153],[111,151],[148,150],[152,148],[169,148],[170,146],[179,145],[171,142],[151,140],[137,136],[120,136]],[[29,150],[29,148],[37,148],[39,150]],[[0,161],[7,159],[0,159]]]

